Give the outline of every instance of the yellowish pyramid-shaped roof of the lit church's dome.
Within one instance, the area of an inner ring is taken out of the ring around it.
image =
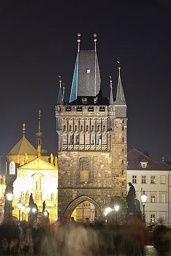
[[[37,150],[28,139],[23,136],[7,156],[25,156],[25,153],[27,153],[28,156],[37,156]]]

